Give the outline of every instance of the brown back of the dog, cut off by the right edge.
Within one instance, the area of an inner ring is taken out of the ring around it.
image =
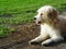
[[[58,16],[62,35],[66,36],[66,16]]]

